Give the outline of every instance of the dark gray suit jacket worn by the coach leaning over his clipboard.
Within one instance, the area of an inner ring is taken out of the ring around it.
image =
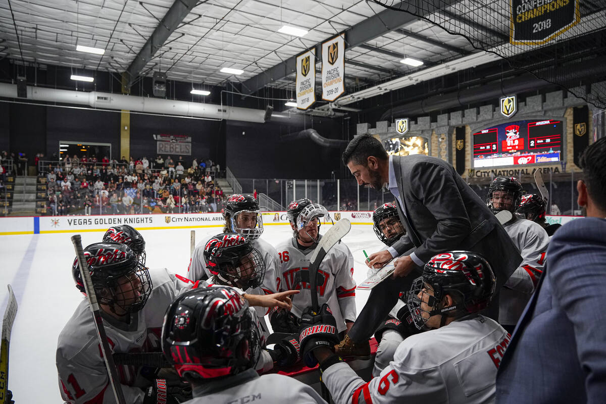
[[[393,248],[402,254],[416,247],[423,262],[443,251],[482,254],[493,267],[498,291],[522,257],[484,201],[452,165],[436,157],[393,156],[393,168],[406,215],[399,206],[398,212],[407,230]]]

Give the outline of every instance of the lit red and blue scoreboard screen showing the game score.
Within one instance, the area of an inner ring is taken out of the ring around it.
[[[473,167],[503,167],[561,160],[562,121],[519,121],[473,134]]]

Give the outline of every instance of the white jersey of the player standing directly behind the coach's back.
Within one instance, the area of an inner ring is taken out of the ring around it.
[[[515,325],[543,273],[549,236],[541,225],[527,219],[512,219],[503,227],[518,247],[522,262],[501,288],[499,323]]]

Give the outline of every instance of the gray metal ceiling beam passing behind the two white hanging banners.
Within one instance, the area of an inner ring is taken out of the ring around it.
[[[447,0],[442,2],[442,6],[454,3],[457,0]],[[436,10],[438,7],[435,6],[436,2],[428,0],[420,0],[419,5],[416,6],[419,13],[423,15],[429,15]],[[415,7],[412,4],[408,4],[407,7]],[[385,35],[388,32],[396,30],[402,25],[409,24],[410,22],[417,21],[419,18],[410,13],[395,13],[393,10],[384,10],[380,13],[365,19],[364,21],[358,22],[353,27],[347,28],[345,33],[345,44],[347,48],[353,48],[364,44],[365,42],[371,41],[378,38],[381,35]],[[311,47],[316,50],[316,58],[320,58],[322,55],[322,42]],[[291,56],[285,61],[262,71],[258,75],[251,77],[244,82],[245,87],[242,87],[242,93],[252,94],[266,85],[276,80],[285,78],[286,76],[295,73],[296,71],[296,56]]]

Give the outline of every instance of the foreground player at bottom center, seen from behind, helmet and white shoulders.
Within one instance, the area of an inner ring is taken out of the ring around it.
[[[259,329],[248,303],[229,286],[188,291],[170,305],[162,327],[168,362],[202,403],[325,403],[310,386],[280,374],[259,376]]]

